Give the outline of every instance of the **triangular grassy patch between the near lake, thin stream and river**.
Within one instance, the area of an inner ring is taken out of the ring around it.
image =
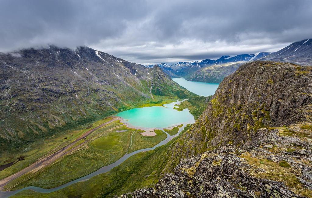
[[[166,133],[164,133],[162,130],[154,130],[156,133],[155,136],[144,136],[141,135],[144,131],[142,130],[137,130],[134,132],[132,136],[132,145],[128,150],[128,153],[143,149],[143,148],[151,148],[157,145],[159,142],[163,141],[164,139],[167,138]]]

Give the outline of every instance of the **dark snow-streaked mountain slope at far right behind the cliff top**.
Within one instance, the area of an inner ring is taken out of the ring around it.
[[[261,60],[290,62],[300,65],[312,65],[312,39],[305,39],[264,57]]]

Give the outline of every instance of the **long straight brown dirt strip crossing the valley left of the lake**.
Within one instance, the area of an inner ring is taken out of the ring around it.
[[[71,142],[70,144],[66,145],[65,147],[62,147],[61,149],[57,150],[56,152],[53,152],[52,154],[50,154],[48,156],[42,157],[37,162],[34,162],[30,166],[22,169],[21,171],[18,171],[16,173],[14,173],[13,175],[8,176],[8,177],[0,180],[0,191],[4,190],[4,186],[7,185],[10,181],[13,181],[14,179],[16,179],[17,177],[25,175],[26,173],[29,173],[29,172],[35,173],[35,172],[39,171],[40,169],[42,169],[43,167],[50,165],[52,162],[55,162],[57,159],[59,159],[65,155],[71,153],[72,151],[76,150],[77,147],[80,147],[85,142],[77,145],[74,148],[71,148],[70,150],[67,150],[67,149],[74,146],[76,144],[76,142],[80,141],[81,139],[85,139],[90,133],[94,132],[95,130],[97,130],[97,129],[99,129],[99,128],[101,128],[101,127],[103,127],[109,123],[112,123],[116,120],[119,120],[119,119],[120,119],[119,117],[114,117],[111,120],[100,124],[99,126],[85,132],[79,138],[77,138],[75,141]],[[14,187],[14,186],[12,186],[12,187]]]

